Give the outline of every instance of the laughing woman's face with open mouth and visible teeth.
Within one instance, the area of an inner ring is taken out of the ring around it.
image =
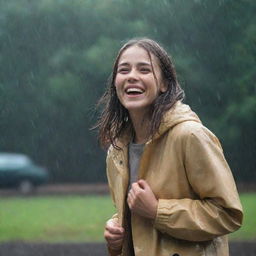
[[[130,114],[145,114],[166,91],[157,58],[139,46],[131,46],[120,56],[115,87],[121,104]],[[155,74],[155,75],[154,75]]]

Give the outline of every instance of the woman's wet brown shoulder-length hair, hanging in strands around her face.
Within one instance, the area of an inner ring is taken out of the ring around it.
[[[159,94],[152,104],[150,110],[152,121],[148,130],[149,136],[153,137],[158,131],[164,113],[172,108],[178,100],[183,100],[184,98],[184,92],[177,81],[174,65],[167,52],[158,43],[148,38],[129,40],[119,50],[113,71],[108,79],[108,88],[98,102],[98,106],[103,105],[104,108],[95,127],[99,129],[98,140],[103,148],[107,148],[112,144],[116,149],[120,149],[116,144],[116,140],[127,130],[131,135],[134,134],[129,112],[120,103],[115,88],[119,59],[122,53],[131,46],[141,47],[148,53],[152,68],[151,56],[154,55],[156,57],[162,72],[163,82],[167,88],[165,92]],[[156,79],[154,69],[153,74]],[[156,82],[158,81],[156,80]]]

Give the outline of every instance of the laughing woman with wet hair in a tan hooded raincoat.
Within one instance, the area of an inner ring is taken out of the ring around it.
[[[104,232],[110,255],[228,255],[242,207],[218,139],[183,97],[156,42],[120,49],[98,123],[117,210]]]

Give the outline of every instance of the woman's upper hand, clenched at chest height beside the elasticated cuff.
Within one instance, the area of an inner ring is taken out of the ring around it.
[[[145,218],[155,219],[158,200],[145,180],[132,184],[127,203],[132,212]]]

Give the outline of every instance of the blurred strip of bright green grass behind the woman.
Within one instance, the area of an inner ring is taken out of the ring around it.
[[[256,194],[242,194],[243,227],[231,240],[256,240]],[[0,242],[100,242],[114,208],[109,196],[48,196],[0,199]]]

